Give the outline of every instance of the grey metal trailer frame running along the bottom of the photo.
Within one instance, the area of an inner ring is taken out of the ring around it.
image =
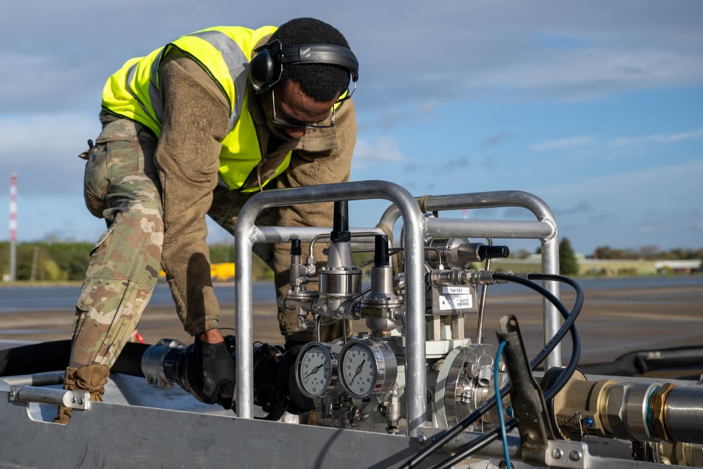
[[[111,378],[108,395],[114,399],[115,394],[120,394],[120,387],[127,389],[129,404],[89,403],[84,410],[74,409],[70,423],[60,425],[51,423],[51,416],[56,414],[54,406],[37,403],[56,401],[58,395],[71,396],[70,391],[58,389],[61,378],[58,372],[0,378],[1,469],[399,468],[442,431],[422,428],[418,437],[406,437],[243,419],[224,409],[217,411],[213,406],[199,404],[180,388],[160,390],[147,385],[143,378],[127,375]],[[158,400],[174,407],[179,405],[179,399],[193,404],[184,406],[190,410],[149,406],[150,401]],[[44,407],[43,411],[39,407]],[[461,451],[480,436],[463,432],[418,468],[443,462],[449,454]],[[596,442],[602,444],[597,449],[601,456],[591,454],[585,442],[548,440],[546,465],[573,469],[662,467],[661,464],[608,457],[608,454],[622,454],[622,447],[615,447],[618,442],[613,440]],[[349,457],[350,450],[352,457]],[[516,468],[534,467],[520,461],[518,437],[508,436],[508,451]],[[477,463],[486,458],[498,465],[503,459],[500,442],[491,442],[477,452],[472,461]]]

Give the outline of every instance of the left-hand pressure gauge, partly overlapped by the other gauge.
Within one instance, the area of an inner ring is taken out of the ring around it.
[[[295,381],[300,392],[314,399],[339,394],[337,357],[341,345],[309,342],[298,353],[295,361]]]

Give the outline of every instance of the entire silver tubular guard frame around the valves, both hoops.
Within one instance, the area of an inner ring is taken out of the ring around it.
[[[425,424],[427,403],[425,394],[425,286],[424,239],[426,236],[474,236],[496,238],[538,238],[543,247],[543,271],[558,273],[559,253],[557,229],[549,207],[529,193],[502,191],[491,193],[437,195],[423,200],[427,211],[465,208],[524,207],[533,212],[538,221],[487,221],[432,219],[423,217],[417,200],[405,188],[387,181],[358,181],[342,184],[325,184],[280,191],[265,191],[254,195],[242,207],[235,230],[236,264],[236,347],[237,347],[237,415],[253,418],[253,356],[252,333],[252,245],[277,243],[298,238],[309,241],[318,229],[269,226],[258,228],[254,221],[262,210],[285,205],[298,205],[337,200],[386,199],[394,203],[386,211],[377,228],[387,224],[392,232],[395,221],[404,220],[405,286],[406,296],[406,370],[413,376],[406,385],[408,436],[417,436]],[[550,282],[547,288],[558,297],[558,285]],[[557,311],[544,303],[545,337],[550,338],[559,327]],[[561,364],[560,349],[555,349],[546,365]]]

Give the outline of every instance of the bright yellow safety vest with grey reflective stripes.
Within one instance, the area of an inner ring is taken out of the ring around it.
[[[159,91],[159,64],[171,48],[185,53],[205,69],[229,101],[229,133],[222,141],[219,176],[230,190],[240,189],[262,160],[254,122],[247,111],[249,61],[257,42],[274,31],[276,27],[273,26],[258,30],[238,26],[212,27],[186,34],[146,57],[128,60],[105,83],[103,108],[144,124],[157,137],[160,136],[163,106]],[[262,181],[262,186],[285,171],[290,155],[291,152],[275,174]],[[243,191],[257,190],[258,187]]]

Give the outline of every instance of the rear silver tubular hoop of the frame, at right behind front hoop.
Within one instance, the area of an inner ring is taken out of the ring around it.
[[[425,212],[477,208],[522,207],[534,214],[537,221],[502,221],[471,219],[427,218],[426,236],[468,236],[472,238],[527,238],[539,239],[542,245],[542,271],[559,274],[559,239],[557,223],[549,206],[536,195],[523,191],[493,191],[455,195],[428,195],[423,198]],[[396,207],[389,207],[382,215],[379,227],[392,232],[399,217]],[[559,283],[543,282],[544,287],[559,297]],[[547,300],[542,301],[545,343],[559,330],[559,311]],[[546,358],[545,367],[562,365],[561,345]]]

